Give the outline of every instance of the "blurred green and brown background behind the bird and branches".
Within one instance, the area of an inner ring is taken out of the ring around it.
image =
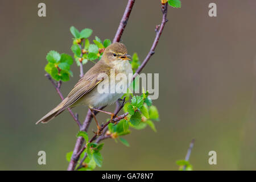
[[[38,3],[47,6],[38,17]],[[145,73],[159,73],[157,133],[133,130],[125,137],[130,147],[105,140],[106,170],[176,170],[189,142],[196,139],[190,162],[195,170],[256,169],[256,1],[181,0],[181,9],[168,9],[168,20],[156,53]],[[208,16],[210,2],[217,17]],[[65,154],[73,150],[78,131],[67,111],[47,125],[35,125],[59,104],[44,77],[46,54],[54,49],[72,55],[69,27],[92,28],[93,36],[113,39],[127,1],[0,1],[1,40],[1,170],[65,170]],[[160,1],[136,1],[122,36],[130,54],[141,61],[160,23]],[[88,63],[85,70],[92,67]],[[61,87],[64,96],[79,80]],[[114,106],[107,107],[113,110]],[[87,109],[73,109],[82,120]],[[105,121],[99,114],[98,120]],[[96,125],[92,124],[96,130]],[[46,151],[46,165],[38,151]],[[217,165],[208,152],[217,152]]]

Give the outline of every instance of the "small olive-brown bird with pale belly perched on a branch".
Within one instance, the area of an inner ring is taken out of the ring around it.
[[[129,63],[130,60],[127,56],[127,49],[124,44],[122,43],[113,43],[110,46],[108,46],[102,57],[101,60],[98,61],[92,68],[89,69],[88,72],[85,73],[85,75],[77,82],[77,84],[74,86],[74,88],[71,90],[71,92],[68,94],[68,97],[66,97],[59,105],[57,105],[54,109],[49,111],[48,114],[46,114],[43,118],[41,118],[36,124],[42,122],[47,123],[51,119],[55,118],[57,115],[62,113],[65,109],[68,107],[72,108],[78,105],[87,105],[89,106],[89,109],[96,110],[96,107],[105,106],[109,104],[113,104],[115,101],[118,100],[119,97],[122,96],[123,93],[117,93],[115,90],[110,88],[109,86],[109,92],[108,93],[100,93],[97,89],[98,85],[101,83],[101,85],[105,85],[108,82],[108,85],[110,83],[110,75],[111,72],[114,70],[115,76],[118,73],[123,73],[128,78],[129,74],[133,73],[133,70],[131,69],[131,65]],[[104,74],[105,77],[101,77],[101,75]],[[108,76],[108,77],[106,77]],[[101,79],[99,80],[99,77]],[[127,84],[127,88],[130,84],[129,80],[122,79],[119,82],[116,82],[117,84]],[[114,91],[114,92],[113,92]],[[113,113],[102,111],[102,113],[110,114],[112,115],[112,118],[114,116]],[[93,112],[92,112],[93,113]],[[94,119],[95,115],[93,114]],[[97,123],[98,132],[100,130],[100,126]],[[97,134],[99,134],[97,132]]]

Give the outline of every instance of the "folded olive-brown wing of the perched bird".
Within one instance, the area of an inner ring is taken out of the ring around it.
[[[56,113],[58,115],[63,110],[70,107],[77,100],[79,100],[86,93],[90,92],[96,85],[98,85],[101,81],[104,80],[104,77],[101,80],[98,80],[98,76],[102,76],[101,74],[105,73],[106,75],[110,75],[110,67],[106,65],[103,61],[98,61],[94,67],[90,68],[88,72],[85,73],[84,77],[82,77],[79,82],[74,86],[71,92],[68,94],[68,99],[63,105],[63,107]]]

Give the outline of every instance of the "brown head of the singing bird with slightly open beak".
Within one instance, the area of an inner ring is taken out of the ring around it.
[[[127,49],[125,47],[125,44],[116,42],[113,44],[110,44],[104,51],[102,55],[102,59],[105,61],[121,61],[121,60],[130,60],[128,57],[130,55],[127,55]]]

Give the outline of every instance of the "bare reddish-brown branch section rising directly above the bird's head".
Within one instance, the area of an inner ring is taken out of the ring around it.
[[[131,14],[131,10],[133,9],[134,2],[135,2],[135,0],[129,0],[128,1],[127,5],[126,5],[125,13],[123,13],[123,18],[121,19],[121,22],[119,24],[117,32],[115,33],[113,43],[120,41],[120,38],[123,34],[123,31],[125,30],[125,27],[126,27],[126,24],[128,22],[129,16]]]

